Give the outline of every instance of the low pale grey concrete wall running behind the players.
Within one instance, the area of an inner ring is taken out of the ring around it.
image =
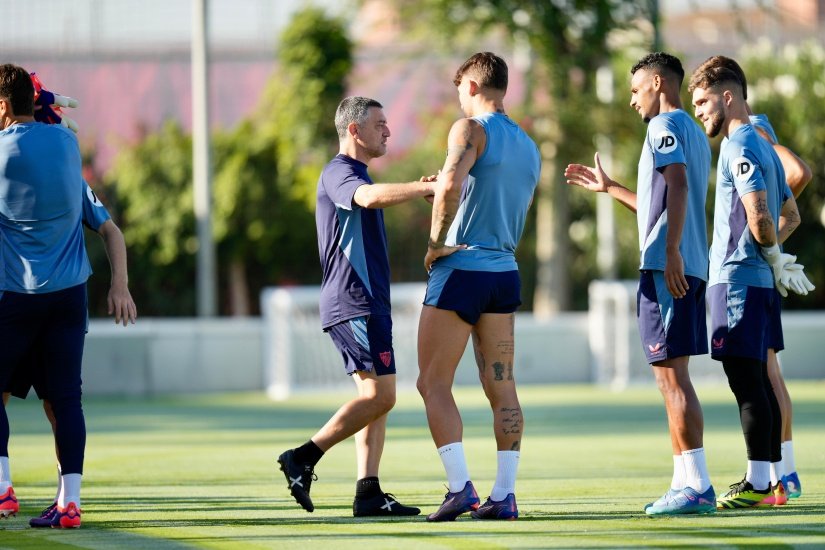
[[[612,309],[594,308],[590,313],[565,313],[547,320],[517,314],[515,364],[519,382],[598,382],[616,389],[650,383],[635,321],[626,318],[632,311],[622,306],[624,312],[617,315],[622,311],[618,306],[622,299],[615,296],[621,292],[612,295]],[[786,312],[783,323],[787,350],[780,359],[786,377],[825,378],[825,312]],[[126,328],[111,320],[92,320],[83,363],[84,390],[87,395],[266,390],[273,382],[274,369],[269,363],[275,357],[269,354],[273,347],[269,330],[263,318],[139,319]],[[396,324],[398,381],[403,388],[414,387],[417,375],[415,331],[415,322]],[[340,357],[320,329],[313,328],[305,340],[294,339],[290,347],[297,348],[291,351],[292,361],[300,365],[292,368],[300,368],[302,373],[312,370],[314,380],[323,382],[298,379],[298,391],[349,387]],[[697,380],[724,380],[720,365],[707,356],[691,360],[691,373]],[[470,346],[456,381],[477,383]]]

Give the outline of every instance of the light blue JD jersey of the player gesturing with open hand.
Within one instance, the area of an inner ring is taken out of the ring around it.
[[[636,220],[639,224],[639,269],[664,271],[667,239],[665,167],[684,164],[687,171],[687,209],[679,252],[685,275],[708,278],[708,238],[705,200],[710,176],[710,145],[704,132],[679,109],[650,120],[639,158]]]

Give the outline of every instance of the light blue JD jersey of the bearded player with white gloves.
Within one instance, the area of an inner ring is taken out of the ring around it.
[[[791,196],[785,170],[773,147],[750,124],[722,143],[716,169],[716,207],[708,285],[741,284],[773,288],[773,273],[748,228],[742,197],[765,191],[768,210],[779,223],[782,204]]]

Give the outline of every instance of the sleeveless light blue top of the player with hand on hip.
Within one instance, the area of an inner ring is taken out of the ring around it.
[[[513,271],[516,245],[539,181],[541,159],[532,139],[502,113],[474,117],[487,134],[484,152],[470,169],[446,244],[467,245],[436,260],[466,271]]]

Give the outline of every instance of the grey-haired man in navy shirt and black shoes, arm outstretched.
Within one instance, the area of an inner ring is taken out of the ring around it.
[[[411,183],[373,183],[369,162],[387,152],[382,105],[347,97],[335,113],[340,148],[318,180],[315,221],[321,257],[321,327],[358,389],[312,438],[278,457],[288,488],[307,512],[315,465],[333,445],[355,436],[358,463],[353,515],[413,516],[381,490],[378,466],[387,413],[395,405],[395,354],[390,317],[390,265],[382,209],[433,195],[434,176]]]

